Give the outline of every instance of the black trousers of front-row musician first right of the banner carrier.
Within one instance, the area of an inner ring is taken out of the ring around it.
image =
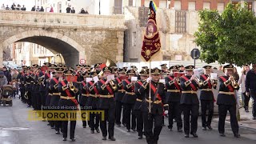
[[[198,130],[198,115],[199,115],[199,105],[182,105],[182,110],[184,114],[184,132],[185,134],[196,133]],[[191,119],[190,119],[191,115]],[[191,125],[190,125],[191,122]],[[190,130],[191,126],[191,130]]]

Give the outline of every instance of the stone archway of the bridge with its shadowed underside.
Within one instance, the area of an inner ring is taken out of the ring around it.
[[[64,34],[47,30],[29,30],[6,38],[0,44],[0,60],[3,48],[14,42],[33,42],[46,47],[54,54],[62,54],[67,66],[75,66],[80,58],[86,58],[85,49]]]

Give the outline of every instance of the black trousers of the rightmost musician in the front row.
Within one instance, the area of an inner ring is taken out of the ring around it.
[[[225,120],[227,111],[230,112],[230,125],[233,133],[238,133],[239,126],[236,116],[236,105],[218,105],[218,132],[225,133]]]

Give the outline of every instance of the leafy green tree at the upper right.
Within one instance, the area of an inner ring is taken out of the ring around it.
[[[199,16],[194,42],[201,47],[202,61],[237,66],[256,63],[256,18],[247,5],[228,4],[222,14],[202,10]]]

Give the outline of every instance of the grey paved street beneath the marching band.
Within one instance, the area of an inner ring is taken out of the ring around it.
[[[20,102],[18,98],[14,99],[14,106],[0,106],[0,143],[1,144],[41,144],[41,143],[72,143],[68,139],[67,142],[62,142],[62,135],[54,134],[54,130],[50,126],[46,126],[47,122],[28,122],[26,105]],[[200,119],[200,118],[199,118]],[[167,119],[166,124],[167,124]],[[205,144],[210,143],[232,143],[232,144],[250,144],[255,143],[256,134],[251,130],[241,130],[242,138],[234,138],[230,132],[230,126],[226,128],[226,138],[218,136],[217,123],[213,123],[214,130],[201,130],[201,122],[198,122],[198,137],[199,138],[184,138],[183,133],[176,131],[167,131],[167,126],[163,127],[158,143],[173,143],[173,144]],[[174,127],[176,130],[176,126]],[[115,127],[114,136],[116,142],[109,140],[102,141],[102,134],[90,134],[90,129],[82,128],[82,122],[77,123],[75,130],[74,143],[146,143],[145,137],[143,140],[138,140],[137,133],[127,133],[125,127]]]

